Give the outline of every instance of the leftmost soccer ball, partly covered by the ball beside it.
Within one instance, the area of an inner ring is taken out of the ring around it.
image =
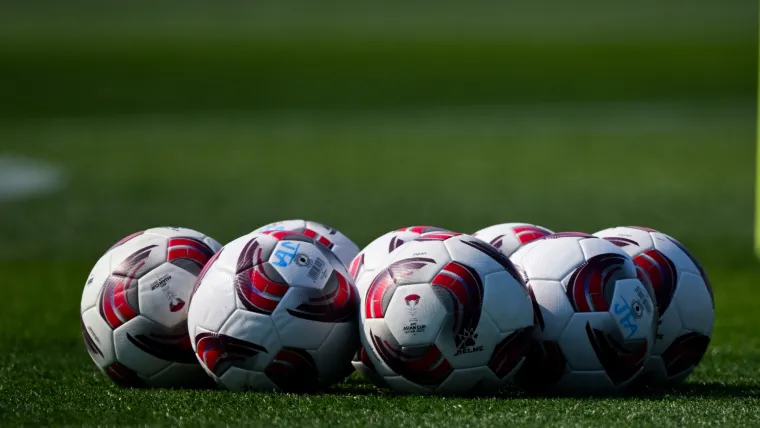
[[[82,292],[82,336],[95,364],[121,386],[206,380],[187,335],[195,279],[221,246],[194,230],[160,227],[117,242]]]

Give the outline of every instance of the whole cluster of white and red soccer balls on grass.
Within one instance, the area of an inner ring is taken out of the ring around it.
[[[670,386],[699,364],[713,319],[707,277],[675,239],[523,223],[406,227],[361,251],[304,220],[224,247],[149,229],[101,257],[81,302],[89,354],[117,384],[235,390],[313,391],[354,369],[412,393]]]

